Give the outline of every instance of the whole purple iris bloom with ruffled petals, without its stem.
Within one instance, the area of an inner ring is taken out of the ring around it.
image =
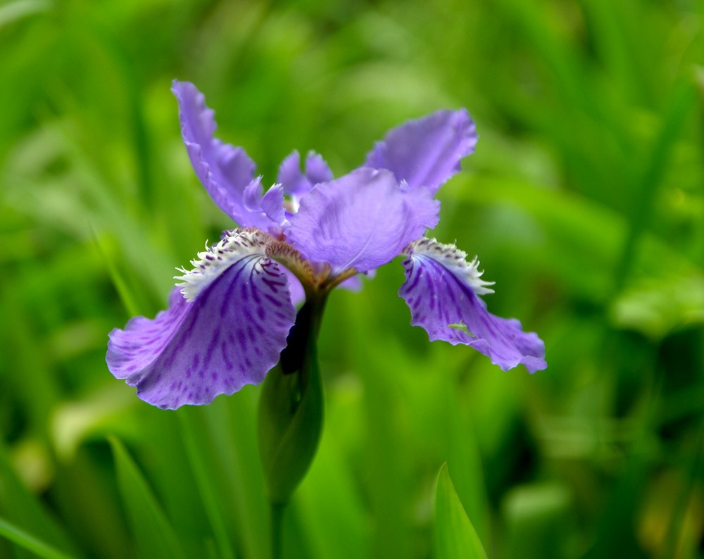
[[[439,220],[434,194],[474,151],[474,122],[464,109],[438,111],[394,128],[364,165],[335,179],[316,153],[301,170],[284,159],[264,191],[244,149],[215,139],[213,111],[188,82],[173,83],[181,131],[196,175],[241,228],[180,270],[169,308],[114,329],[107,363],[160,408],[206,404],[258,384],[279,361],[304,299],[324,300],[354,287],[358,274],[403,256],[411,324],[431,340],[472,346],[503,370],[546,368],[545,346],[515,319],[487,312],[491,293],[476,258],[424,237]]]

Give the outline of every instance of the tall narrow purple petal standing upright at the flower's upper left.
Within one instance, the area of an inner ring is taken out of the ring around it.
[[[277,222],[276,218],[283,220],[283,211],[264,211],[260,203],[254,204],[254,209],[247,207],[244,194],[256,181],[254,162],[244,149],[213,137],[217,128],[215,113],[206,106],[205,96],[194,84],[177,80],[174,80],[171,91],[178,101],[181,134],[191,164],[210,198],[242,227],[268,230],[282,225],[283,221]],[[261,199],[260,190],[257,194]]]

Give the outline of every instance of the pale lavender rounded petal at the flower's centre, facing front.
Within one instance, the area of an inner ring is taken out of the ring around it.
[[[367,272],[434,227],[438,213],[429,191],[405,191],[390,171],[361,168],[304,196],[288,235],[304,257],[334,273]]]

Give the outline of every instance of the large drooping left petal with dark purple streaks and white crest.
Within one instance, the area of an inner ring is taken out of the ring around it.
[[[286,275],[264,256],[267,241],[262,232],[234,230],[199,253],[168,310],[111,332],[113,375],[165,409],[262,382],[296,319]]]

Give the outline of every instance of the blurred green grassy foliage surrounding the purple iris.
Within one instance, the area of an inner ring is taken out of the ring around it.
[[[436,556],[445,462],[491,558],[704,556],[703,8],[3,2],[0,557],[266,556],[259,389],[164,412],[104,361],[232,227],[190,168],[175,77],[268,184],[292,149],[341,175],[390,127],[467,107],[477,152],[432,234],[546,341],[536,375],[430,344],[398,261],[334,293],[287,557]]]

